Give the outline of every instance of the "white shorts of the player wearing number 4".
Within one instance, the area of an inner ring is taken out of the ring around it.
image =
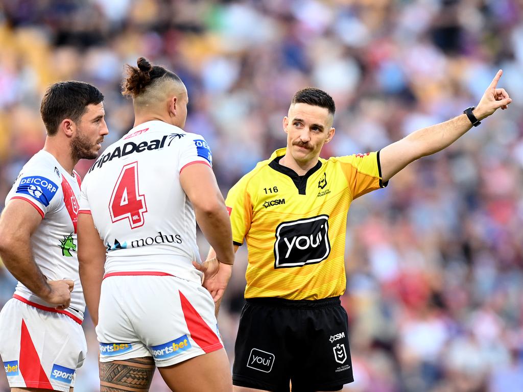
[[[170,366],[223,347],[214,302],[176,276],[110,276],[101,285],[100,362],[152,356]]]

